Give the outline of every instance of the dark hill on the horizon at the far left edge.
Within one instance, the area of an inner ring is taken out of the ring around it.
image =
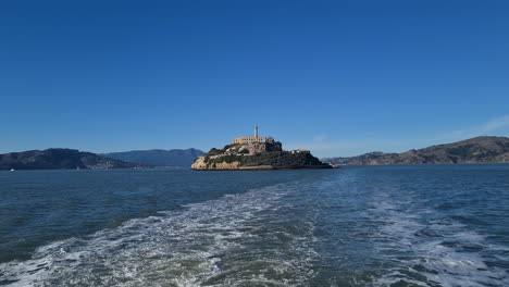
[[[28,150],[0,154],[0,170],[129,169],[133,164],[73,149]]]

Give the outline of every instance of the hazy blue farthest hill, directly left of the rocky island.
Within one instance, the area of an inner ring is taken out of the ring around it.
[[[154,166],[185,166],[190,167],[196,158],[204,152],[197,149],[172,150],[133,150],[125,152],[102,153],[102,157],[133,163],[150,164]]]

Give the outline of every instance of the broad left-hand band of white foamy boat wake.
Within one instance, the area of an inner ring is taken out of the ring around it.
[[[282,215],[301,183],[194,203],[38,248],[0,264],[8,286],[299,286],[313,276],[313,222]],[[283,224],[282,224],[283,223]]]

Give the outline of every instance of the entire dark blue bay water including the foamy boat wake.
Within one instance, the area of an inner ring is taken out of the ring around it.
[[[0,285],[509,286],[509,165],[0,172]]]

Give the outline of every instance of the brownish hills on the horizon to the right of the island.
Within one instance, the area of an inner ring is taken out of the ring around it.
[[[370,152],[350,158],[322,159],[330,164],[439,164],[509,162],[509,138],[475,137],[402,153]]]

